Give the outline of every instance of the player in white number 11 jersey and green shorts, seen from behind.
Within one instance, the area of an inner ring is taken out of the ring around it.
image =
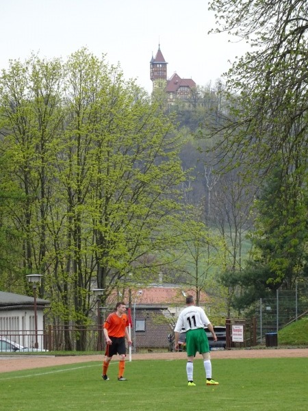
[[[188,377],[188,386],[196,386],[194,384],[194,357],[196,352],[201,353],[203,356],[203,364],[205,369],[205,375],[207,378],[207,385],[218,385],[218,382],[214,381],[211,377],[211,358],[209,356],[209,340],[207,340],[207,334],[205,334],[205,327],[209,329],[214,341],[217,341],[216,334],[214,332],[213,325],[209,322],[209,319],[205,315],[202,308],[194,306],[194,297],[189,295],[186,297],[186,308],[179,314],[177,324],[175,325],[175,349],[179,349],[179,335],[182,329],[186,332],[186,351],[187,351],[187,364],[186,373]]]

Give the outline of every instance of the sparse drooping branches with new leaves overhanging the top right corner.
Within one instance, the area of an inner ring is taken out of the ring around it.
[[[267,171],[307,157],[307,1],[215,1],[217,31],[252,50],[228,73],[233,116],[224,149]],[[224,123],[226,127],[226,123]]]

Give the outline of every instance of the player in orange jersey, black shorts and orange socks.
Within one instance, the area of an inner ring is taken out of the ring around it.
[[[106,340],[106,352],[103,361],[102,377],[105,381],[109,379],[107,377],[108,366],[112,356],[116,356],[116,354],[119,354],[120,356],[120,361],[118,363],[118,381],[127,381],[127,379],[123,377],[126,357],[125,336],[129,345],[131,345],[131,339],[129,338],[129,322],[125,311],[126,306],[123,301],[116,303],[116,312],[112,312],[112,314],[107,316],[107,320],[103,326]]]

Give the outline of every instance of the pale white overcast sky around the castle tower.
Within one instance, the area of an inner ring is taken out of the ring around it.
[[[88,47],[151,92],[150,60],[159,42],[168,77],[177,72],[199,86],[214,83],[228,60],[247,49],[227,34],[207,34],[215,23],[207,0],[0,0],[0,6],[0,69],[32,52],[65,60]]]

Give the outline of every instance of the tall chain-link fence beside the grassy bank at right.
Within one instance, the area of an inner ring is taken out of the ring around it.
[[[296,282],[294,290],[279,288],[276,297],[256,301],[257,342],[263,343],[266,333],[279,329],[308,314],[308,283]]]

